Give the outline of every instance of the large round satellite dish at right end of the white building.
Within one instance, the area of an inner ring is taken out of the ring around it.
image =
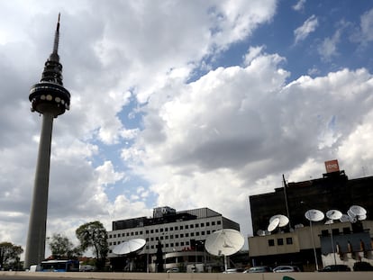
[[[243,247],[244,239],[237,230],[223,229],[210,234],[205,241],[207,252],[214,256],[231,256]]]

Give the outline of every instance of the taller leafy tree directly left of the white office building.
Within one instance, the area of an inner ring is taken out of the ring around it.
[[[100,221],[91,221],[81,225],[76,230],[77,239],[80,241],[80,248],[85,251],[93,248],[97,258],[97,269],[105,266],[105,260],[109,247],[107,245],[107,231]]]

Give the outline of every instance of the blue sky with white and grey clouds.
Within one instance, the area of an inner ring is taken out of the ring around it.
[[[373,3],[0,2],[0,241],[25,248],[53,46],[70,110],[54,121],[47,236],[208,207],[252,235],[249,196],[372,176]],[[277,213],[274,213],[277,214]]]

